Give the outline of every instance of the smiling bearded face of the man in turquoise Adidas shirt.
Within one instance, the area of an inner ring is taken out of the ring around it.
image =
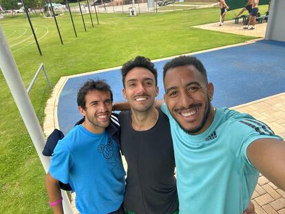
[[[189,134],[202,133],[211,125],[212,97],[213,85],[193,65],[173,67],[165,74],[165,103]]]

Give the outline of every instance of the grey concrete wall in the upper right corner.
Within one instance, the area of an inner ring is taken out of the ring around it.
[[[284,0],[271,0],[265,39],[285,41]]]

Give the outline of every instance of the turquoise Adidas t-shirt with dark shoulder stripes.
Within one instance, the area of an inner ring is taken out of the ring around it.
[[[199,135],[183,131],[167,106],[176,160],[180,214],[242,214],[259,172],[246,156],[258,138],[279,138],[248,114],[216,109],[210,127]],[[281,138],[279,138],[281,139]]]

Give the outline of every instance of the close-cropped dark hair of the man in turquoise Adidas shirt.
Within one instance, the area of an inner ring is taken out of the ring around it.
[[[178,56],[176,58],[173,58],[170,62],[166,63],[165,67],[163,67],[163,83],[165,82],[165,75],[169,69],[187,65],[193,65],[196,67],[202,76],[204,76],[206,83],[208,83],[206,69],[204,68],[204,65],[201,63],[201,61],[195,56]]]

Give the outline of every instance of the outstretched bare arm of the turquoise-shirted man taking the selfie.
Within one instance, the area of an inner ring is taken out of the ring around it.
[[[247,149],[251,163],[280,189],[285,191],[285,142],[272,138],[255,140]]]

